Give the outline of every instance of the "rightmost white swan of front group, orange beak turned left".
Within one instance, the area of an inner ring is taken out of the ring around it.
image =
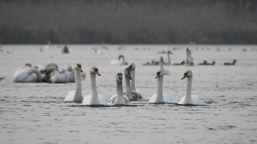
[[[192,78],[193,78],[192,71],[187,70],[181,79],[184,79],[184,78],[187,78],[187,80],[186,80],[186,95],[180,99],[178,104],[204,105],[200,96],[197,96],[197,95],[191,96],[191,84],[192,84]]]

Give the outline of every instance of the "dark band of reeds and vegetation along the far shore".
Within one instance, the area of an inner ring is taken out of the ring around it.
[[[257,44],[256,0],[2,0],[2,44]]]

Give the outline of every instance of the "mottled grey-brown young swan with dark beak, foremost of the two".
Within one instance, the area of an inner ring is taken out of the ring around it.
[[[109,99],[109,105],[116,105],[116,104],[124,104],[130,105],[130,101],[127,96],[123,95],[123,87],[122,87],[122,73],[117,73],[116,75],[116,84],[117,84],[117,93]]]

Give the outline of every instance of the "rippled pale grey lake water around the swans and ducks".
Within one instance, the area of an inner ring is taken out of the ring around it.
[[[96,55],[93,46],[104,55]],[[101,74],[97,76],[98,93],[108,99],[116,94],[116,74],[124,73],[127,67],[109,63],[123,54],[126,61],[136,64],[136,88],[149,99],[156,93],[158,66],[142,64],[161,55],[167,61],[166,54],[156,52],[172,47],[179,48],[172,50],[172,63],[179,63],[186,57],[187,46],[125,45],[126,50],[117,50],[119,45],[107,45],[109,50],[105,50],[101,45],[70,45],[70,54],[61,54],[63,46],[54,45],[43,52],[39,52],[40,47],[2,46],[0,76],[6,77],[0,82],[0,143],[257,143],[257,51],[250,51],[256,46],[197,46],[204,50],[192,51],[194,62],[215,60],[215,66],[164,65],[171,75],[164,76],[163,92],[179,102],[186,87],[186,80],[181,78],[190,69],[192,94],[199,95],[204,106],[139,101],[132,102],[136,106],[119,107],[63,102],[75,89],[74,83],[12,83],[13,73],[25,63],[55,62],[59,68],[66,68],[81,61],[87,72],[82,90],[90,93],[88,71],[91,65],[97,65]],[[216,52],[217,47],[220,52]],[[243,52],[243,48],[248,51]],[[235,66],[223,65],[233,59],[238,61]]]

